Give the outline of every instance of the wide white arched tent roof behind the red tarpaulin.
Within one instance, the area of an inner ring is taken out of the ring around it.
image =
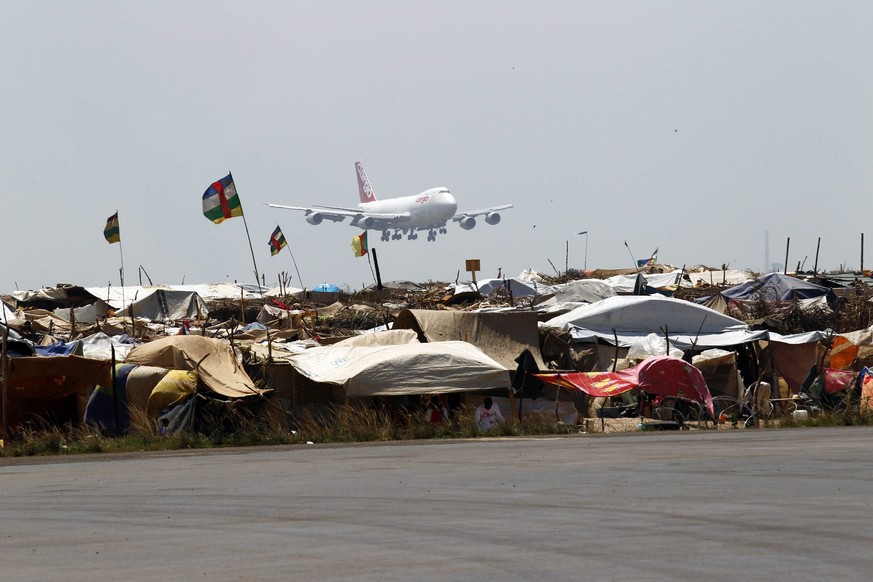
[[[577,307],[541,324],[570,334],[577,342],[614,343],[622,347],[642,342],[650,333],[668,332],[680,349],[731,346],[766,339],[767,332],[751,331],[738,319],[689,301],[659,295],[609,297]],[[695,343],[696,342],[696,343]]]

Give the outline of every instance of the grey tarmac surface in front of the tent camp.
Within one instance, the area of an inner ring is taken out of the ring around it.
[[[3,580],[869,580],[873,429],[0,459]]]

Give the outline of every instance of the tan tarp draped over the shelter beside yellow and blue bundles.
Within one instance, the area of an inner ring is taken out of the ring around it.
[[[228,398],[261,394],[227,342],[198,335],[178,335],[137,346],[126,363],[172,370],[194,370],[210,390]]]

